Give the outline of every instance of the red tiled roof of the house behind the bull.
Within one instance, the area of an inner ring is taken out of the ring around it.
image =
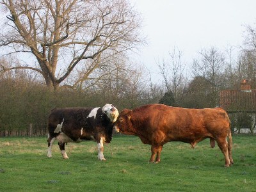
[[[220,107],[227,112],[256,112],[256,90],[222,90]]]

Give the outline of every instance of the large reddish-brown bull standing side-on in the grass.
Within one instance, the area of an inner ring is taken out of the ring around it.
[[[196,143],[210,138],[211,147],[217,141],[225,156],[225,166],[234,163],[232,159],[232,136],[230,120],[221,108],[186,109],[149,104],[133,110],[124,109],[114,124],[117,132],[140,137],[142,143],[151,145],[150,162],[160,161],[165,143],[182,141]],[[227,141],[228,137],[228,141]]]

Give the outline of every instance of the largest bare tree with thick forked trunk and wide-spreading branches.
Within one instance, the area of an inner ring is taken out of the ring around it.
[[[9,12],[0,30],[0,47],[8,47],[8,54],[32,54],[38,63],[29,58],[24,65],[1,65],[1,72],[34,70],[54,89],[61,83],[85,81],[102,61],[143,42],[140,17],[126,0],[1,0],[0,4],[2,13]],[[84,74],[67,81],[75,68],[82,67]]]

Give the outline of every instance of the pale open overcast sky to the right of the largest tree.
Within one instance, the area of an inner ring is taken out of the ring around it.
[[[151,70],[158,81],[157,60],[168,58],[175,47],[191,65],[198,51],[225,50],[243,44],[244,25],[256,27],[256,0],[131,0],[143,17],[148,45],[134,60]],[[189,69],[188,69],[189,70]],[[188,72],[189,73],[189,72]]]

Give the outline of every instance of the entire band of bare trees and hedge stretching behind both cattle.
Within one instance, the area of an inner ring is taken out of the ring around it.
[[[241,79],[249,79],[251,88],[256,88],[254,52],[244,52],[234,66],[222,62],[222,54],[216,49],[205,51],[203,55],[202,61],[194,63],[195,72],[190,80],[182,75],[182,71],[179,76],[175,72],[165,74],[172,70],[171,66],[167,70],[163,65],[159,66],[165,82],[162,84],[154,84],[140,76],[140,71],[124,70],[116,75],[109,73],[103,79],[86,79],[76,86],[61,86],[56,90],[46,86],[38,74],[28,70],[7,70],[3,67],[4,60],[0,60],[0,136],[45,135],[47,118],[53,108],[100,107],[106,103],[115,105],[119,111],[149,103],[214,108],[218,106],[220,90],[239,90]],[[220,58],[219,65],[215,63],[216,57]],[[8,66],[8,62],[5,65]],[[232,130],[234,127],[255,129],[248,114],[230,117]]]

